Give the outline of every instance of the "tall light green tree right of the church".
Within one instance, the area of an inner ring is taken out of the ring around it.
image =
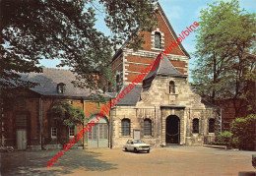
[[[199,24],[195,90],[213,103],[231,98],[237,115],[243,106],[237,99],[246,88],[244,76],[255,67],[255,59],[246,55],[255,43],[255,14],[240,10],[237,0],[214,2],[201,10]]]

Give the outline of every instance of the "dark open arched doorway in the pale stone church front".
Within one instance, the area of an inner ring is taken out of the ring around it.
[[[166,118],[165,143],[177,144],[180,142],[180,120],[176,115]]]

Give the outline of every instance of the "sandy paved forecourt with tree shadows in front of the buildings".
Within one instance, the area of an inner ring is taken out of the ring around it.
[[[153,148],[133,153],[121,148],[72,149],[51,167],[57,150],[1,153],[5,175],[256,175],[252,151],[207,147]]]

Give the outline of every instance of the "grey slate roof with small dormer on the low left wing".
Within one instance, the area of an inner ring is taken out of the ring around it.
[[[75,88],[71,82],[76,80],[76,75],[70,70],[43,68],[42,73],[21,75],[24,80],[38,83],[39,86],[30,89],[42,95],[88,97],[92,93],[95,93],[90,91],[89,88]],[[66,85],[65,92],[63,94],[57,93],[57,85],[59,83]]]

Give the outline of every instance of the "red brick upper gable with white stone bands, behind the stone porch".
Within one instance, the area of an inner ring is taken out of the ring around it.
[[[143,49],[134,52],[132,49],[128,49],[125,44],[113,56],[111,69],[116,76],[117,88],[115,88],[115,91],[120,90],[124,85],[130,84],[141,74],[142,70],[145,70],[154,62],[164,48],[172,44],[171,41],[177,38],[159,3],[155,9],[159,26],[152,32],[143,31],[140,33],[144,34],[145,44],[142,45]],[[190,56],[182,44],[174,48],[167,57],[179,72],[188,75],[188,60]]]

